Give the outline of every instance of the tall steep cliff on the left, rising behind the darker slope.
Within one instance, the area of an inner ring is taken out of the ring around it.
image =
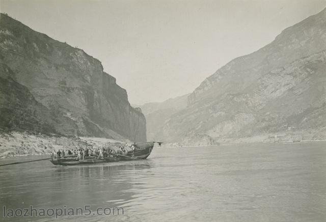
[[[0,62],[2,77],[25,90],[19,91],[20,96],[15,92],[17,98],[30,92],[33,103],[26,106],[37,103],[47,110],[42,113],[51,114],[54,122],[47,114],[39,119],[52,122],[52,133],[146,140],[144,115],[130,106],[126,90],[103,72],[101,62],[83,50],[1,14]],[[31,123],[31,128],[36,128],[37,122]]]

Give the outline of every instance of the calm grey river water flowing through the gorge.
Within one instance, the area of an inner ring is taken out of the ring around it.
[[[0,203],[5,221],[56,220],[6,214],[30,206],[91,209],[88,216],[59,215],[68,221],[325,221],[326,143],[155,147],[142,161],[5,166]],[[96,215],[99,207],[111,214]],[[123,212],[112,215],[115,207]]]

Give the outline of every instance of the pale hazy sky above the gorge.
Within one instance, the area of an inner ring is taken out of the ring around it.
[[[325,1],[5,1],[0,11],[98,58],[130,103],[192,92]]]

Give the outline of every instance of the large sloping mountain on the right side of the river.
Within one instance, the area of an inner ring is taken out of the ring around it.
[[[193,145],[326,139],[325,50],[326,9],[205,79],[161,137]]]

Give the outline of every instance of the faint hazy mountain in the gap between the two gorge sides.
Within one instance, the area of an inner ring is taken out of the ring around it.
[[[161,130],[164,123],[169,120],[173,114],[187,106],[188,96],[189,94],[185,94],[161,103],[146,103],[141,106],[134,106],[140,107],[146,117],[147,138],[149,140],[160,141],[163,139],[161,138]]]

